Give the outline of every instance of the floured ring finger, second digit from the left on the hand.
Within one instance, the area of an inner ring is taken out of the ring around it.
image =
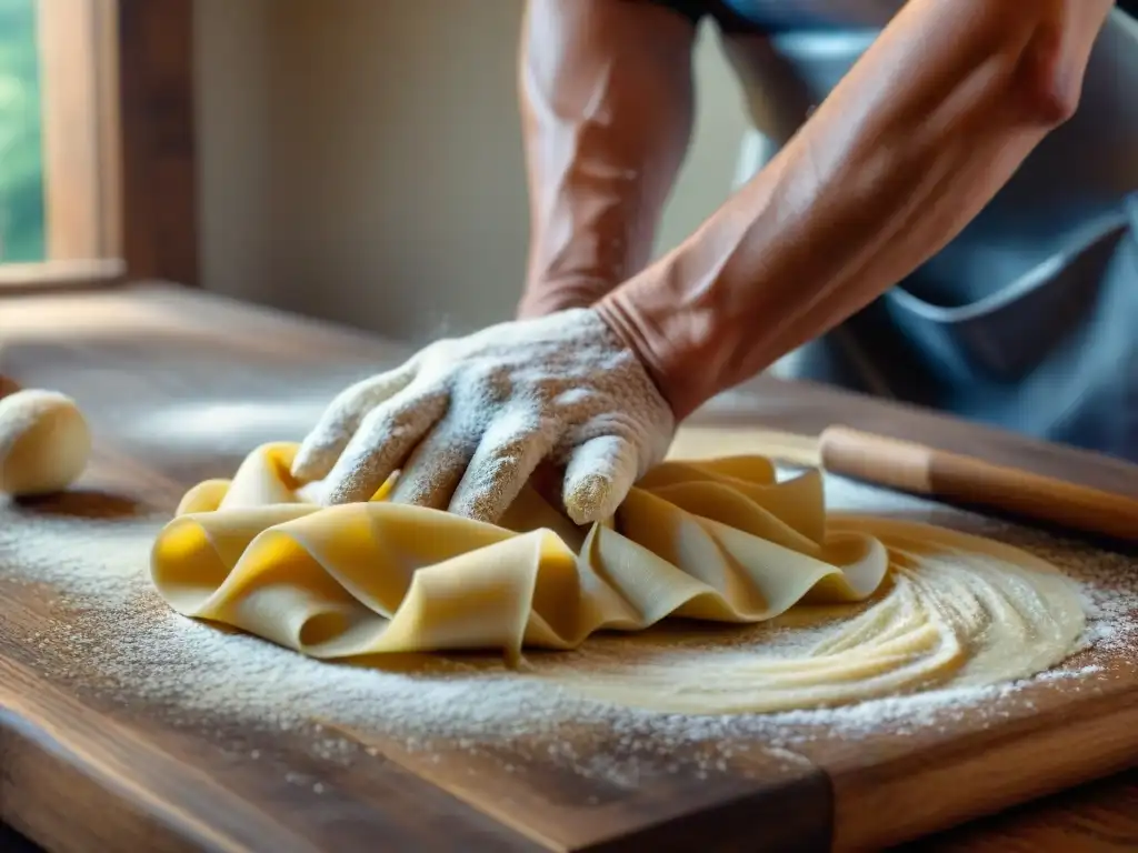
[[[446,413],[445,388],[415,386],[373,408],[325,480],[328,504],[370,500],[391,472]]]

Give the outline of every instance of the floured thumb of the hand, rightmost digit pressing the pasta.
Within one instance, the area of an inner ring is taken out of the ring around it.
[[[562,490],[566,512],[578,524],[610,517],[636,482],[638,453],[617,436],[591,438],[569,454]]]

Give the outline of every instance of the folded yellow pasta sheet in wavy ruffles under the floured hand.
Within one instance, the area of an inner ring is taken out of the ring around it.
[[[665,462],[616,515],[575,525],[527,487],[501,523],[387,500],[324,507],[254,450],[182,499],[152,550],[170,605],[320,659],[568,649],[668,618],[753,623],[800,602],[861,602],[882,540],[828,530],[820,474],[778,482],[758,456]]]

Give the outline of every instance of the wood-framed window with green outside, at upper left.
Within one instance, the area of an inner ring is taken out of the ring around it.
[[[0,0],[0,287],[193,284],[192,0]]]

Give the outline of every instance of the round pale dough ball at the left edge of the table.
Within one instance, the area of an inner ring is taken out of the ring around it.
[[[0,399],[0,491],[63,491],[83,473],[90,453],[91,430],[71,397],[26,389]]]

